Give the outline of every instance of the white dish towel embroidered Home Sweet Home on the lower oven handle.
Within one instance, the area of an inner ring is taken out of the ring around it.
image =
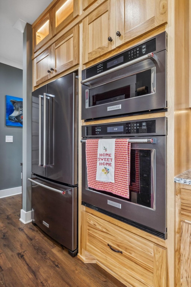
[[[115,139],[98,140],[96,180],[115,182]]]

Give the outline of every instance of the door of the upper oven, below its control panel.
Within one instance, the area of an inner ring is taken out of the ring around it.
[[[166,108],[166,53],[82,84],[82,119]]]

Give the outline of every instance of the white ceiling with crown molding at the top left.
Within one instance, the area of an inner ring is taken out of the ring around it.
[[[52,0],[0,0],[0,62],[22,69],[23,33],[14,28],[21,19],[33,24]]]

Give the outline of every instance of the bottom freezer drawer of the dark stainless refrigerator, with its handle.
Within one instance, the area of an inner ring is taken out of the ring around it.
[[[77,193],[77,187],[33,178],[33,223],[69,251],[77,249]]]

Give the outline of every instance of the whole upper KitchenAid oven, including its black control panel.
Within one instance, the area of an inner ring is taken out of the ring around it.
[[[167,108],[167,33],[82,71],[82,119]]]

